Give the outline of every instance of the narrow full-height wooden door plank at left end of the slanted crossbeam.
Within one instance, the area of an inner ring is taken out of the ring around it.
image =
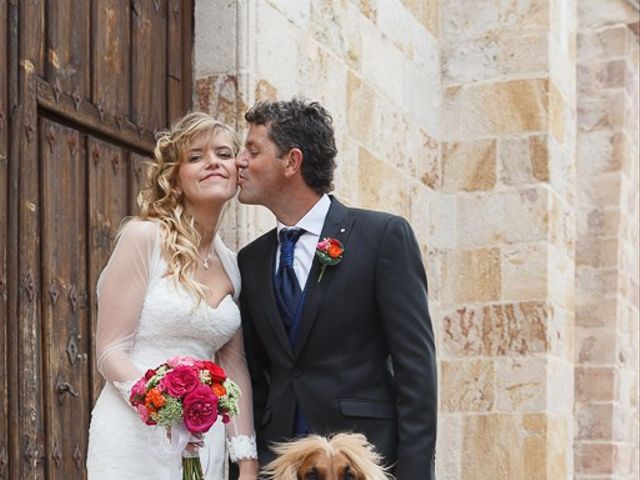
[[[18,362],[17,404],[18,438],[13,461],[19,464],[20,479],[43,478],[46,474],[45,422],[40,346],[40,194],[38,164],[38,119],[33,78],[43,71],[44,2],[19,2],[19,79],[18,98],[21,119],[19,192],[17,207],[18,299],[15,340]],[[13,471],[13,466],[12,466]],[[12,474],[13,475],[13,474]],[[13,478],[13,477],[12,477]]]

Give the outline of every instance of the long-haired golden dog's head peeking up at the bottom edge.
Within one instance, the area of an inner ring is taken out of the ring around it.
[[[273,480],[393,480],[382,457],[359,433],[319,435],[274,445],[262,474]],[[262,478],[262,477],[261,477]]]

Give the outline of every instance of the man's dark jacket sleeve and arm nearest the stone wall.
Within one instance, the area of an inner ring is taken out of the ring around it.
[[[377,257],[376,295],[395,374],[398,480],[432,480],[436,444],[437,379],[427,278],[420,248],[406,220],[388,222]]]

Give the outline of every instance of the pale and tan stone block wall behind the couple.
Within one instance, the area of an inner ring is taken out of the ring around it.
[[[255,100],[319,100],[335,194],[414,226],[439,480],[637,476],[632,3],[196,1],[197,106],[243,132]],[[274,224],[232,204],[222,233]]]

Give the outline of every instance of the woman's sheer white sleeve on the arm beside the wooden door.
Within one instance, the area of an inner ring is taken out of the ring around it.
[[[151,256],[158,234],[152,222],[131,221],[120,232],[116,247],[97,285],[98,371],[129,400],[129,389],[143,372],[129,353],[149,282]]]

